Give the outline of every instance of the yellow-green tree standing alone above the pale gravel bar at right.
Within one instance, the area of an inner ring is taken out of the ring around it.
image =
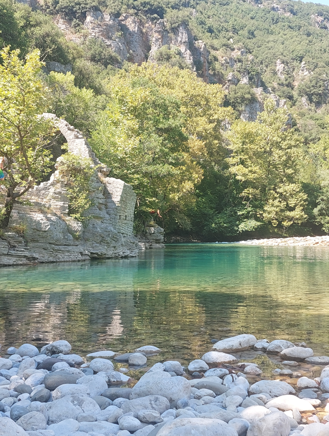
[[[256,122],[241,120],[227,134],[230,173],[240,185],[239,196],[249,219],[262,220],[285,233],[306,221],[306,194],[298,181],[302,140],[286,128],[287,113],[267,100]]]

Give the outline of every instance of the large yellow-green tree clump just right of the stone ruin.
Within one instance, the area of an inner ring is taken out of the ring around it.
[[[91,145],[115,177],[133,185],[137,219],[161,211],[167,230],[189,229],[187,210],[203,167],[223,153],[221,126],[231,115],[223,91],[190,70],[143,64],[110,80],[110,103]]]

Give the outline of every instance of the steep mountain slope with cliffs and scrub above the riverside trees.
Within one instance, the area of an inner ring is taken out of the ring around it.
[[[286,100],[307,140],[316,141],[324,128],[329,7],[289,0],[30,1],[67,41],[105,43],[116,67],[148,61],[191,68],[223,84],[226,104],[246,120],[261,110],[263,88]]]

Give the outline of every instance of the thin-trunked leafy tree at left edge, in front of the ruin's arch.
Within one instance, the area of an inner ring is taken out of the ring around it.
[[[41,79],[39,52],[32,51],[25,61],[19,51],[2,50],[0,66],[0,155],[5,157],[5,211],[7,226],[13,204],[18,202],[45,173],[51,162],[48,139],[54,134],[51,120],[41,116],[47,107],[47,90]]]

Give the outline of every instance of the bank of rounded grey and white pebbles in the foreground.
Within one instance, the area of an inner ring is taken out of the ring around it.
[[[213,342],[187,367],[147,345],[2,350],[0,436],[329,436],[329,357],[253,335]]]

